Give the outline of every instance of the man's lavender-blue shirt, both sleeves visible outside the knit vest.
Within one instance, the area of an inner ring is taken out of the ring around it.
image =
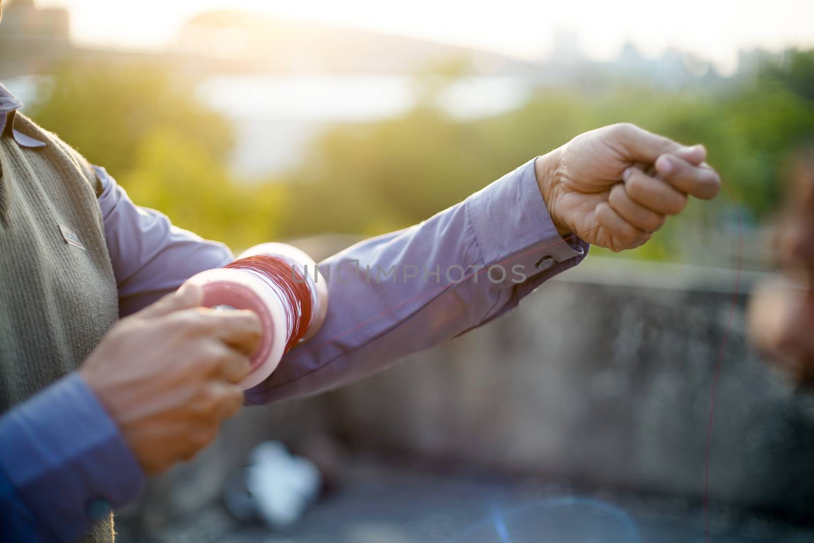
[[[4,103],[19,107],[10,96],[0,85],[0,113]],[[104,169],[96,173],[122,316],[232,260],[222,243],[136,206]],[[557,233],[530,160],[421,224],[322,261],[330,274],[324,325],[248,390],[247,401],[333,388],[461,335],[577,265],[588,247]],[[44,541],[70,541],[133,499],[143,478],[93,392],[69,375],[0,418],[0,539],[28,530]]]

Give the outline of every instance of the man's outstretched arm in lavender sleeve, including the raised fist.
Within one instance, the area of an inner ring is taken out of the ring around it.
[[[700,146],[633,125],[593,130],[417,226],[330,257],[322,329],[247,399],[300,396],[370,374],[505,313],[578,264],[589,242],[614,251],[645,243],[688,194],[716,194],[720,180],[705,158]],[[137,208],[100,176],[124,311],[230,260],[225,247]]]

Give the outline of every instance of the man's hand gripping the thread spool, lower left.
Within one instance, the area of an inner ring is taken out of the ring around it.
[[[185,285],[117,322],[79,370],[148,474],[195,456],[243,404],[260,318],[202,296]]]

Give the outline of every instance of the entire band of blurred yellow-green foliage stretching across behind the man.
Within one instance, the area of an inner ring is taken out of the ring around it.
[[[767,61],[726,91],[667,93],[637,85],[598,94],[538,90],[522,107],[462,121],[437,107],[462,77],[457,60],[416,80],[418,105],[394,119],[339,125],[318,137],[282,179],[234,179],[225,160],[232,129],[195,99],[195,81],[149,66],[68,65],[43,85],[33,109],[138,204],[234,247],[325,231],[380,234],[466,198],[576,134],[619,121],[703,142],[726,189],[691,204],[650,243],[626,256],[678,260],[732,222],[729,192],[747,221],[777,206],[786,154],[814,136],[814,52]],[[307,211],[307,214],[306,214]]]

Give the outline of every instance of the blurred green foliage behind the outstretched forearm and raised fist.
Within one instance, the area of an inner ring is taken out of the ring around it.
[[[629,121],[680,142],[703,142],[724,179],[716,201],[693,202],[650,243],[625,253],[681,260],[688,247],[734,228],[733,199],[747,227],[777,207],[787,153],[814,136],[814,102],[796,91],[807,88],[814,56],[800,59],[781,82],[744,81],[717,94],[636,85],[602,94],[539,90],[513,112],[470,122],[433,107],[435,88],[404,116],[340,126],[317,139],[289,182],[296,205],[314,209],[315,219],[283,231],[379,234],[408,226],[577,134]]]

